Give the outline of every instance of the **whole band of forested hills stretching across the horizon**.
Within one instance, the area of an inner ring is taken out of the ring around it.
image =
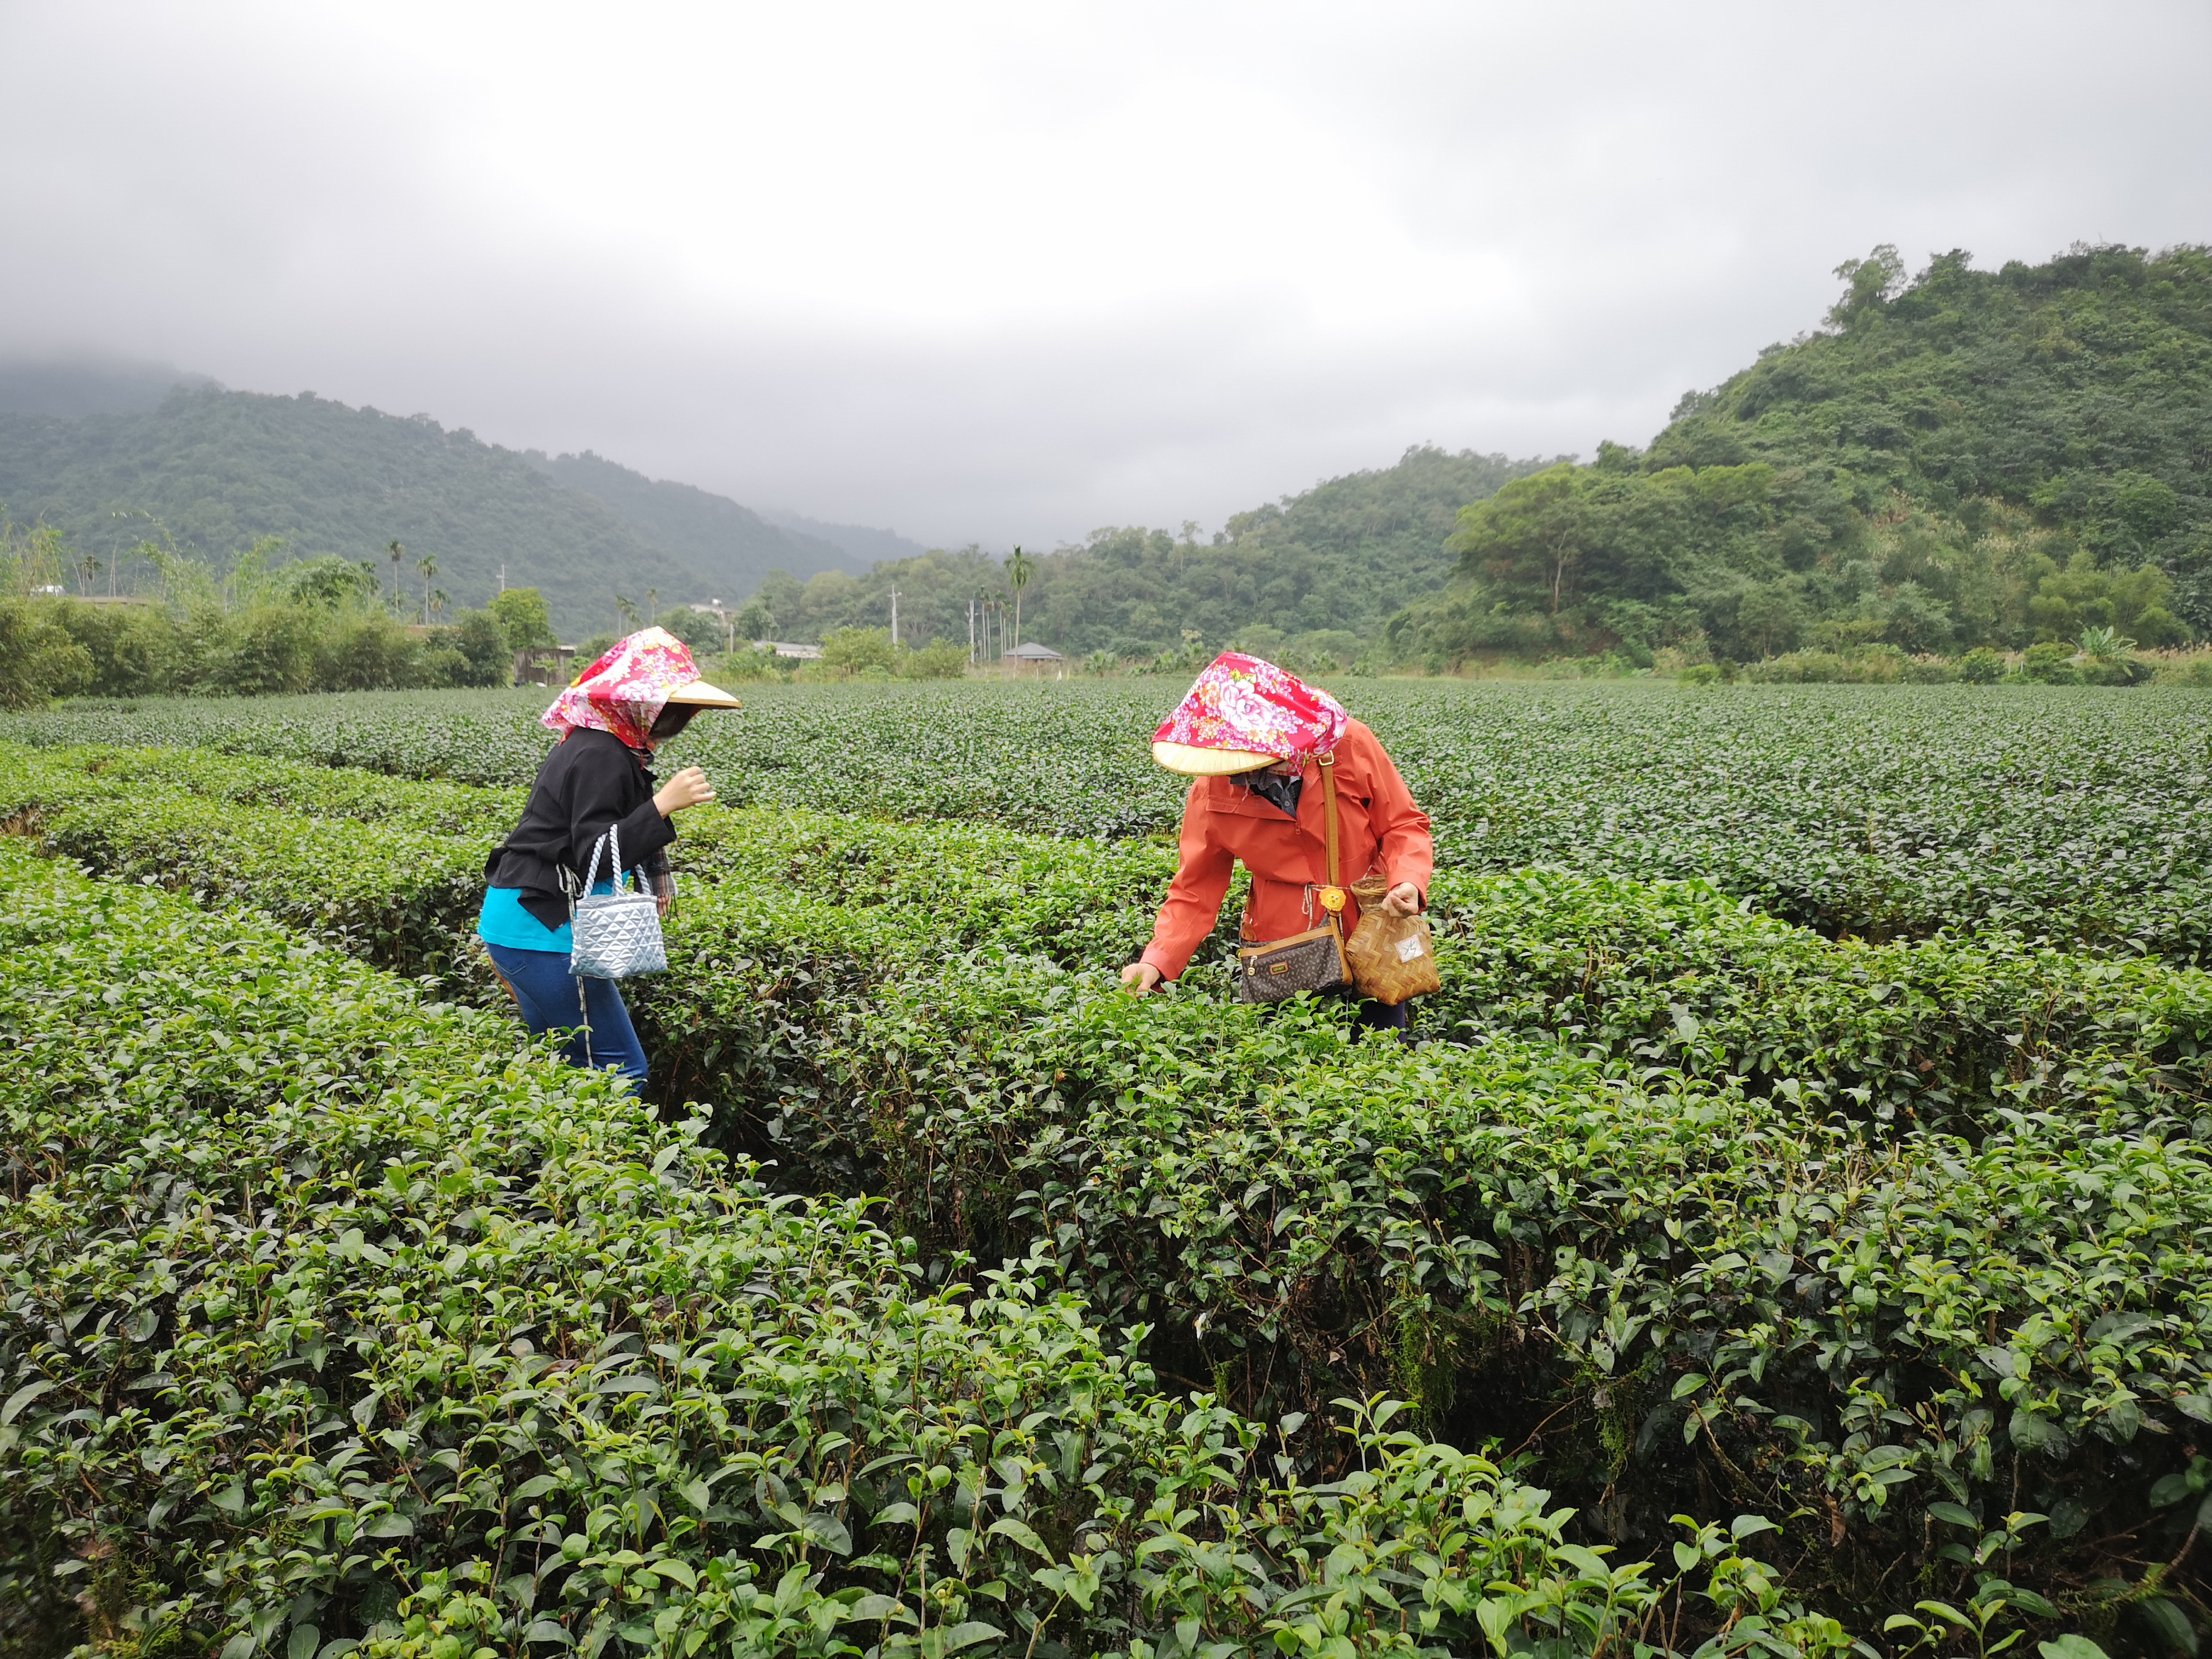
[[[1416,447],[1210,542],[1128,526],[1031,549],[1022,637],[1071,657],[1237,641],[1442,666],[2212,635],[2212,252],[2077,248],[1995,272],[1951,252],[1907,281],[1878,248],[1838,276],[1820,330],[1683,398],[1648,449],[1573,465]],[[0,405],[58,396],[24,385],[0,376]],[[973,546],[772,522],[593,453],[520,456],[307,394],[0,414],[0,502],[104,562],[146,515],[217,560],[281,535],[290,557],[389,575],[398,540],[400,584],[418,595],[431,555],[456,606],[482,604],[504,564],[571,639],[619,626],[617,593],[637,611],[752,597],[748,633],[818,639],[887,626],[896,591],[905,641],[964,644],[975,599],[993,655],[1015,604],[1004,562]],[[863,566],[874,553],[900,557]]]

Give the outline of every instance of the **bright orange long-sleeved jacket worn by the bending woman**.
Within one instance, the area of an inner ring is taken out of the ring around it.
[[[1252,872],[1245,938],[1290,938],[1321,927],[1325,911],[1314,896],[1327,880],[1321,763],[1307,761],[1303,776],[1296,821],[1232,779],[1192,781],[1183,801],[1181,865],[1139,962],[1157,967],[1164,980],[1190,964],[1199,940],[1214,929],[1239,858]],[[1347,723],[1336,743],[1336,832],[1345,887],[1380,865],[1391,887],[1409,880],[1429,902],[1436,867],[1429,816],[1413,805],[1398,768],[1360,721]],[[1358,900],[1347,900],[1345,938],[1358,920]]]

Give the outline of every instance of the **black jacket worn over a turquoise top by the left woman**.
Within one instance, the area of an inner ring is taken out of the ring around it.
[[[538,768],[522,823],[484,860],[484,883],[520,887],[522,909],[546,927],[560,927],[568,920],[562,872],[582,883],[591,849],[608,825],[626,867],[644,865],[648,874],[668,867],[661,849],[677,832],[653,805],[653,772],[613,732],[577,726]],[[599,854],[599,880],[613,874],[606,854]]]

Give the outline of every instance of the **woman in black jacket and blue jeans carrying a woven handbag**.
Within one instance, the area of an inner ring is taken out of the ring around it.
[[[666,847],[677,838],[668,818],[712,801],[714,790],[697,765],[653,787],[646,763],[701,708],[739,708],[739,701],[699,679],[684,641],[661,628],[619,641],[544,712],[562,739],[538,768],[522,823],[484,863],[476,936],[524,1024],[538,1035],[566,1033],[568,1064],[608,1066],[639,1086],[646,1051],[622,991],[613,980],[568,971],[568,902],[586,878],[593,891],[613,891],[619,847],[622,867],[644,869],[668,914]]]

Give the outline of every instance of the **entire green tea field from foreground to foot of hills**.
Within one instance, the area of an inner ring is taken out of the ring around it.
[[[1416,1044],[1115,989],[1181,684],[768,688],[646,1099],[542,692],[0,721],[0,1655],[2194,1655],[2212,697],[1338,690]]]

